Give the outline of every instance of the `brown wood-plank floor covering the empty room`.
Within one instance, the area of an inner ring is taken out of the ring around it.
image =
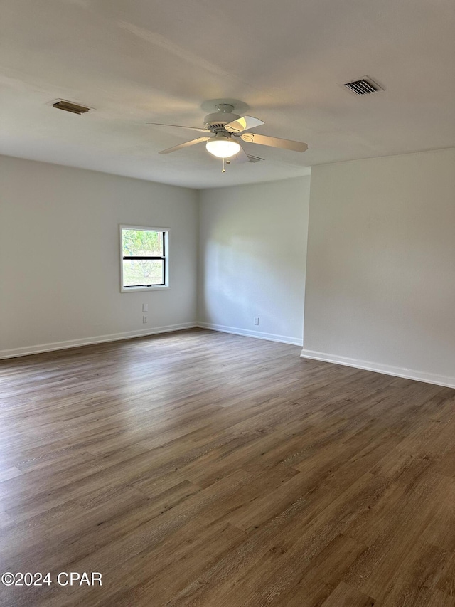
[[[455,390],[299,353],[194,329],[1,361],[0,573],[52,584],[0,605],[455,607]]]

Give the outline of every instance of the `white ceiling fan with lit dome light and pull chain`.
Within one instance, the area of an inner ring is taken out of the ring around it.
[[[234,106],[230,103],[218,103],[215,107],[217,110],[216,112],[205,116],[203,129],[197,127],[184,127],[181,125],[162,125],[159,122],[148,122],[149,125],[178,127],[181,129],[191,129],[207,133],[203,137],[191,139],[191,141],[169,147],[168,149],[162,149],[159,154],[169,154],[170,152],[176,152],[183,147],[205,142],[205,148],[210,154],[222,158],[223,161],[229,159],[228,163],[257,162],[257,160],[263,160],[262,158],[248,155],[238,142],[238,139],[242,139],[242,141],[247,143],[257,143],[259,145],[289,149],[292,152],[305,152],[306,149],[308,149],[306,143],[248,132],[250,129],[264,125],[264,122],[252,116],[239,116],[233,114],[232,111],[234,110]]]

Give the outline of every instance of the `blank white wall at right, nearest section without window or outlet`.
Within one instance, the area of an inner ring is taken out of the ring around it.
[[[313,167],[302,355],[455,387],[455,149]]]

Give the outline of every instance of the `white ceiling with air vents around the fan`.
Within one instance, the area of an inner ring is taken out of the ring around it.
[[[0,21],[2,154],[205,188],[455,145],[454,0],[0,0]],[[385,92],[340,86],[365,75]],[[158,154],[198,134],[146,122],[202,127],[220,98],[308,152]]]

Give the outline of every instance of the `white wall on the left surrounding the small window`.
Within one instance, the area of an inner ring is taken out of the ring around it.
[[[196,191],[10,157],[0,171],[0,357],[196,324]],[[170,290],[120,292],[120,223],[171,229]]]

